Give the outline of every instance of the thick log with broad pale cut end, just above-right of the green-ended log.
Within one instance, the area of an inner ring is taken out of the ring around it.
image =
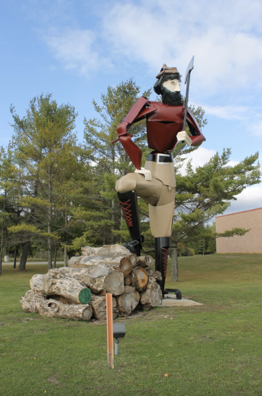
[[[124,292],[124,275],[104,264],[94,265],[83,275],[84,283],[92,293],[112,293],[114,296]]]

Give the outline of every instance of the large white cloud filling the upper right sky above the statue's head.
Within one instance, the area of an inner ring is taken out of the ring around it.
[[[262,80],[262,3],[250,0],[116,3],[104,36],[122,59],[156,73],[165,62],[184,73],[195,54],[194,86],[204,95]],[[260,81],[260,82],[259,82]]]

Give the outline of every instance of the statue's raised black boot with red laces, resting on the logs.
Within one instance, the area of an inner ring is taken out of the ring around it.
[[[117,193],[118,199],[125,217],[129,234],[132,241],[125,242],[123,246],[130,250],[131,253],[140,256],[142,249],[142,242],[144,238],[141,236],[137,194],[135,191],[128,191],[127,193]]]

